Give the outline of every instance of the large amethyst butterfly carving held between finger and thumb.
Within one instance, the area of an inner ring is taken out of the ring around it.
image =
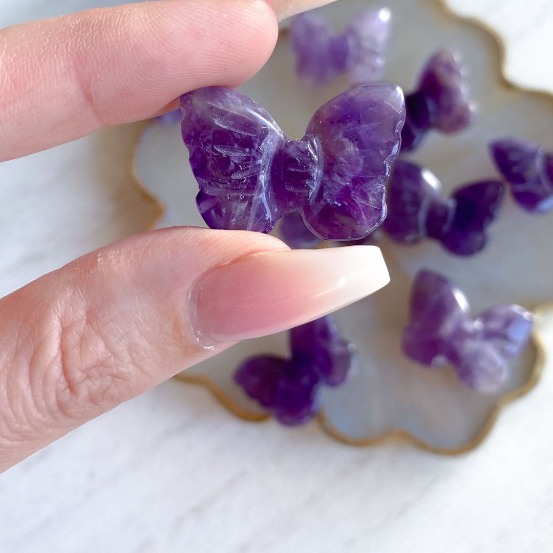
[[[182,139],[211,228],[269,232],[298,211],[318,237],[363,238],[386,215],[405,110],[396,85],[352,88],[322,106],[301,140],[230,88],[181,96]]]

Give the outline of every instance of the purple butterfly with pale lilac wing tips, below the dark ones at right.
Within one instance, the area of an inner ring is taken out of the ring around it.
[[[422,270],[415,276],[406,356],[432,368],[450,362],[468,387],[492,393],[507,378],[507,358],[520,354],[530,337],[532,314],[519,305],[499,305],[476,319],[462,291],[444,276]]]

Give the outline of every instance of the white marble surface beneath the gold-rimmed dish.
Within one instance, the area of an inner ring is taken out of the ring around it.
[[[0,27],[100,3],[0,0]],[[450,4],[503,34],[510,77],[553,92],[551,0]],[[0,165],[1,293],[153,217],[120,168],[135,131]],[[553,321],[547,328],[551,343]],[[0,477],[0,551],[545,553],[551,369],[457,458],[399,444],[357,450],[315,425],[248,424],[205,390],[171,381]]]

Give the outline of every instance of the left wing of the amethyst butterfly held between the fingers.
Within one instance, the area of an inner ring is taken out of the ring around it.
[[[284,133],[253,100],[231,88],[181,96],[182,140],[200,186],[197,206],[211,228],[269,232],[281,213],[270,163]]]

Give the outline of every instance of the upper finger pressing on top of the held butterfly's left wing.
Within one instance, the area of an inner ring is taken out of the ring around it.
[[[237,86],[277,35],[264,0],[166,0],[0,31],[0,161],[152,117],[181,93]]]

